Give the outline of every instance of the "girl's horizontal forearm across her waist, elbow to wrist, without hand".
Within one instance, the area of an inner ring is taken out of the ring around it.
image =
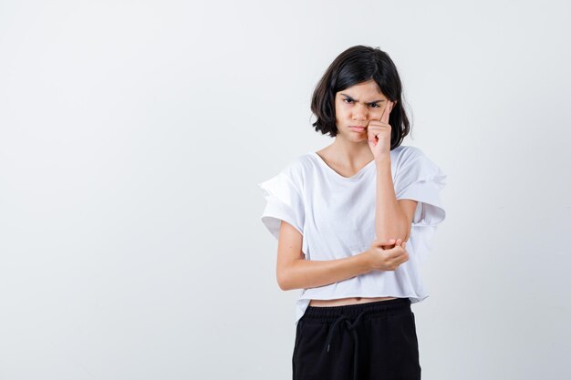
[[[280,283],[282,290],[315,288],[370,272],[366,252],[337,260],[296,260]]]

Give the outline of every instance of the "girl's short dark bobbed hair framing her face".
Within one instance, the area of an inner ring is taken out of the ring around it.
[[[341,53],[317,83],[311,99],[311,111],[317,117],[312,123],[322,135],[337,136],[335,95],[338,91],[374,80],[390,101],[397,101],[389,115],[392,128],[390,149],[400,146],[410,132],[409,118],[402,103],[402,84],[397,67],[379,47],[352,46]]]

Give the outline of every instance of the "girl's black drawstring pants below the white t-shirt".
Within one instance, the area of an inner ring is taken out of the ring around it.
[[[308,306],[297,322],[294,380],[419,380],[410,299]]]

